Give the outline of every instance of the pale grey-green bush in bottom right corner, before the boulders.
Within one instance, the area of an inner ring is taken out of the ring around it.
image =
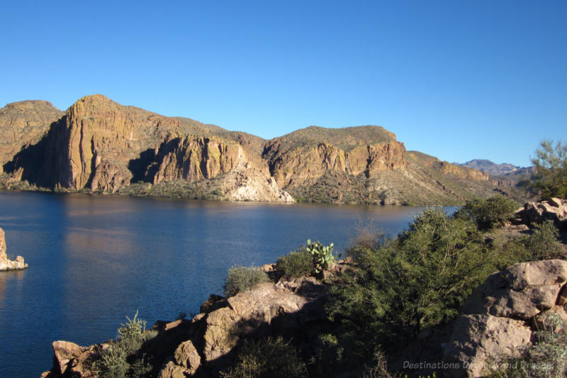
[[[498,358],[490,362],[490,378],[532,378],[567,376],[567,322],[550,314],[534,335],[534,343],[519,358]]]

